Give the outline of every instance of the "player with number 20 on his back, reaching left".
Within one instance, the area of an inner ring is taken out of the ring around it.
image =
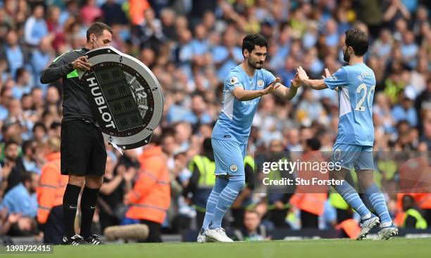
[[[361,233],[357,239],[366,238],[372,228],[380,225],[379,239],[388,240],[398,234],[387,210],[385,195],[373,178],[373,96],[375,76],[373,70],[363,63],[368,50],[368,37],[361,30],[346,31],[343,53],[349,63],[330,75],[325,69],[324,79],[308,79],[302,67],[298,68],[299,79],[304,86],[313,89],[334,89],[338,91],[339,123],[338,136],[333,147],[333,162],[339,162],[341,170],[331,172],[332,179],[343,180],[352,167],[358,175],[360,188],[364,189],[378,217],[368,210],[356,190],[346,181],[334,188],[344,200],[361,215]]]

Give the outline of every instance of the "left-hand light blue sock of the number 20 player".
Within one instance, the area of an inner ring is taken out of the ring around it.
[[[363,204],[358,192],[356,192],[355,188],[351,187],[349,183],[344,180],[340,185],[335,186],[335,190],[337,190],[337,192],[342,195],[342,198],[358,212],[362,219],[369,219],[371,217],[370,210]]]

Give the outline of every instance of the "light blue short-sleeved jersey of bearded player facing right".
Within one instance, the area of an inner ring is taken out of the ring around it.
[[[251,101],[238,101],[232,91],[237,87],[247,90],[265,89],[275,81],[275,76],[265,69],[255,70],[254,76],[249,77],[241,66],[230,70],[223,88],[223,107],[213,129],[212,138],[237,141],[246,144],[250,135],[254,113],[261,98]]]

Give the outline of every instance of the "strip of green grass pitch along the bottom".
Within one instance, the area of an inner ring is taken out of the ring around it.
[[[348,239],[292,240],[237,243],[147,243],[123,245],[54,246],[54,254],[11,254],[1,257],[64,258],[227,258],[227,257],[430,257],[431,238],[389,241]]]

